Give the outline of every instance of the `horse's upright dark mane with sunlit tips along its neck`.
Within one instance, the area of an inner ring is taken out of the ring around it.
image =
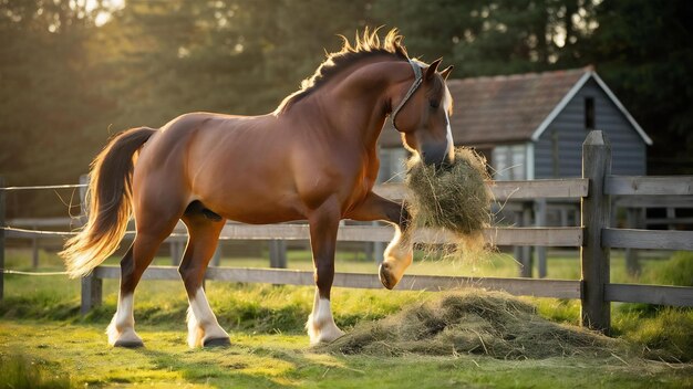
[[[343,41],[342,49],[335,53],[328,53],[328,57],[318,66],[316,73],[303,80],[300,90],[287,96],[275,113],[281,114],[287,112],[294,103],[310,95],[335,74],[363,59],[385,54],[402,61],[408,61],[406,48],[402,44],[404,36],[400,35],[397,29],[390,30],[384,40],[381,40],[377,35],[379,30],[380,28],[369,31],[369,28],[365,28],[362,35],[359,35],[356,32],[353,45],[344,35],[339,35]]]

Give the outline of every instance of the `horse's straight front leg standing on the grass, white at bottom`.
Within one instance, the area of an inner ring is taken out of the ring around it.
[[[317,286],[313,312],[308,316],[308,323],[306,323],[311,345],[332,341],[344,335],[334,324],[330,307],[330,290],[334,280],[334,249],[340,213],[339,201],[337,198],[330,198],[312,211],[308,218]]]

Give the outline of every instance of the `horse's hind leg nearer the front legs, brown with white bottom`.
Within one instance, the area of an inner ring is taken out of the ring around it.
[[[178,272],[188,294],[188,346],[209,347],[230,345],[228,334],[219,326],[205,296],[203,281],[225,220],[210,218],[196,207],[188,207],[183,215],[189,240]]]

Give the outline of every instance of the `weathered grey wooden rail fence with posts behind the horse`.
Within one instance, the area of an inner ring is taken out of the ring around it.
[[[651,231],[610,228],[611,196],[693,196],[693,176],[676,177],[618,177],[610,175],[611,149],[601,132],[592,132],[583,144],[582,178],[532,181],[492,182],[499,202],[506,199],[575,199],[581,203],[581,227],[567,228],[490,228],[486,239],[496,245],[572,246],[580,248],[582,277],[573,280],[532,280],[500,277],[405,275],[395,290],[442,291],[478,286],[505,291],[514,295],[573,298],[581,301],[581,323],[592,329],[608,333],[610,303],[649,303],[672,306],[693,306],[693,287],[614,284],[609,280],[610,249],[693,250],[693,231]],[[0,181],[0,186],[1,186]],[[382,196],[399,199],[405,196],[401,186],[381,186]],[[4,191],[0,190],[0,211]],[[3,212],[0,212],[0,222]],[[3,267],[3,240],[31,239],[40,232],[0,229],[0,267]],[[43,232],[45,233],[45,232]],[[360,242],[387,242],[393,229],[377,225],[343,225],[338,240]],[[51,233],[54,235],[55,233]],[[69,235],[70,233],[58,233]],[[182,239],[182,235],[175,238]],[[221,240],[308,240],[307,224],[249,225],[228,223]],[[447,243],[454,236],[439,230],[417,230],[415,241]],[[120,277],[120,267],[97,266],[82,280],[82,312],[87,312],[102,301],[102,280]],[[144,274],[151,280],[179,280],[174,266],[151,266]],[[309,271],[280,269],[209,267],[207,280],[247,283],[313,285]],[[354,288],[382,287],[376,274],[338,273],[334,286]],[[0,293],[2,278],[0,276]],[[1,296],[1,294],[0,294]]]

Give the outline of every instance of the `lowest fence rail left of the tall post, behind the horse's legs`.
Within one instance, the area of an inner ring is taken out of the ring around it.
[[[117,278],[120,269],[116,266],[99,266],[94,270],[94,274],[103,278]],[[147,280],[179,280],[180,276],[176,267],[173,266],[149,266],[143,277]],[[209,267],[206,278],[226,282],[314,285],[312,272],[286,269]],[[376,274],[363,273],[337,273],[334,274],[333,286],[353,288],[383,287]],[[404,275],[395,290],[446,291],[461,287],[484,287],[521,296],[580,298],[580,282],[572,280]]]

